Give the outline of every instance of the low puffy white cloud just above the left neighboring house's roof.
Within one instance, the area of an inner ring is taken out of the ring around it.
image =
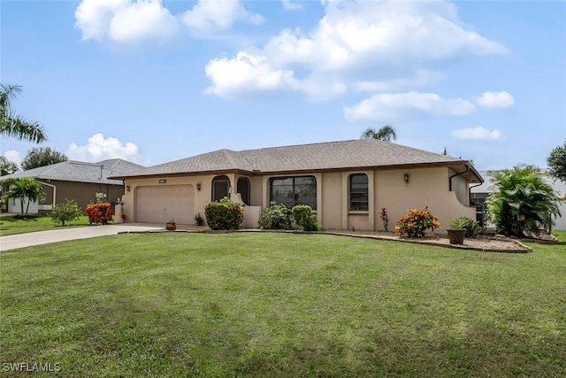
[[[137,164],[144,164],[138,146],[134,143],[122,143],[117,138],[104,138],[102,133],[92,135],[85,145],[71,143],[66,155],[72,160],[97,162],[108,158],[122,158]]]

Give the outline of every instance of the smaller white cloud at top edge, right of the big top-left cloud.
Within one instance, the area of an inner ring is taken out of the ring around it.
[[[199,0],[181,19],[187,27],[203,32],[226,30],[237,21],[254,25],[264,22],[259,14],[246,11],[240,0]]]

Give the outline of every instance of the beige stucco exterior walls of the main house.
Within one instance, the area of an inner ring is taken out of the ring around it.
[[[349,210],[349,177],[351,174],[367,174],[370,211]],[[409,182],[405,183],[404,174],[409,174]],[[393,231],[396,221],[411,208],[423,209],[428,206],[431,212],[439,217],[441,228],[436,232],[444,232],[447,220],[457,217],[475,219],[475,208],[462,203],[469,198],[467,183],[459,176],[453,178],[453,189],[449,191],[449,177],[454,174],[448,168],[419,168],[408,170],[386,171],[351,171],[339,173],[313,174],[317,180],[317,218],[326,229],[356,228],[357,230],[385,230],[379,217],[382,208],[386,208],[389,219],[388,230]],[[297,174],[305,175],[305,174]],[[226,174],[232,188],[241,177],[237,174]],[[255,227],[261,209],[269,206],[270,179],[287,177],[287,175],[265,175],[248,177],[250,181],[249,216],[247,227]],[[123,197],[126,221],[136,221],[134,204],[136,192],[140,186],[156,185],[192,185],[200,190],[194,192],[195,214],[204,214],[204,206],[212,196],[212,179],[215,175],[167,177],[163,183],[159,178],[135,179],[126,181],[130,191]],[[460,198],[460,199],[459,199]],[[464,202],[467,203],[467,202]],[[253,209],[252,209],[253,208]],[[244,209],[246,214],[246,209]],[[251,225],[251,226],[250,226]]]

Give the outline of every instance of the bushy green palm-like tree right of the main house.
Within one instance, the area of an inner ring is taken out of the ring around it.
[[[539,235],[540,228],[552,228],[562,199],[544,180],[539,167],[516,166],[489,175],[497,191],[486,198],[487,213],[498,232],[523,237]]]

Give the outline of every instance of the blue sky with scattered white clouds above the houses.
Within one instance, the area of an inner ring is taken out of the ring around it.
[[[0,81],[69,158],[153,166],[357,139],[546,167],[566,138],[566,2],[0,1]],[[2,139],[12,161],[32,143]]]

